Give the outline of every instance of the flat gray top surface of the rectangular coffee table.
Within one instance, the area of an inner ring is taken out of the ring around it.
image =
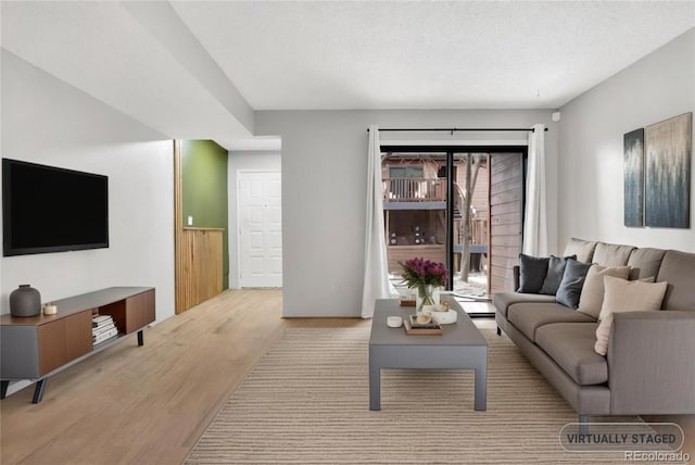
[[[447,301],[450,312],[457,312],[456,323],[442,325],[443,335],[421,336],[406,335],[403,327],[390,328],[387,317],[401,316],[404,321],[415,314],[414,306],[401,306],[397,299],[379,299],[376,301],[369,345],[488,345],[485,338],[468,314],[455,299],[442,297]]]

